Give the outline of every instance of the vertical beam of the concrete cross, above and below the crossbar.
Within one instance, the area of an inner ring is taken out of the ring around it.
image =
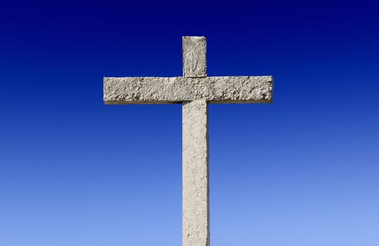
[[[183,37],[183,77],[206,77],[205,37]],[[210,245],[208,104],[183,102],[183,246]]]

